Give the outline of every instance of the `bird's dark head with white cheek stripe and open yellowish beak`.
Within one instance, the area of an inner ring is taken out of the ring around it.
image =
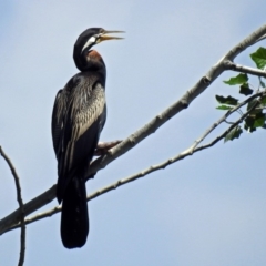
[[[93,45],[102,41],[123,39],[121,37],[108,35],[110,33],[123,33],[123,31],[106,31],[102,28],[90,28],[79,35],[73,53],[73,59],[79,70],[83,71],[85,69],[86,55]]]

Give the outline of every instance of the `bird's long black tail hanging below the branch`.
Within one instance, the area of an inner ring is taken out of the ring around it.
[[[73,177],[64,192],[61,216],[61,238],[64,247],[82,247],[89,233],[85,182]]]

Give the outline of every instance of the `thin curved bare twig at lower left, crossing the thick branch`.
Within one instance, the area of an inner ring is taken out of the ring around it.
[[[6,160],[13,177],[14,177],[14,184],[17,188],[17,201],[19,203],[19,209],[20,209],[20,227],[21,227],[21,234],[20,234],[20,258],[19,258],[19,266],[22,266],[24,263],[24,254],[25,254],[25,224],[24,224],[24,206],[21,195],[21,187],[20,187],[20,181],[19,176],[16,172],[16,168],[11,162],[11,160],[8,157],[8,155],[3,152],[2,147],[0,146],[0,154]]]

